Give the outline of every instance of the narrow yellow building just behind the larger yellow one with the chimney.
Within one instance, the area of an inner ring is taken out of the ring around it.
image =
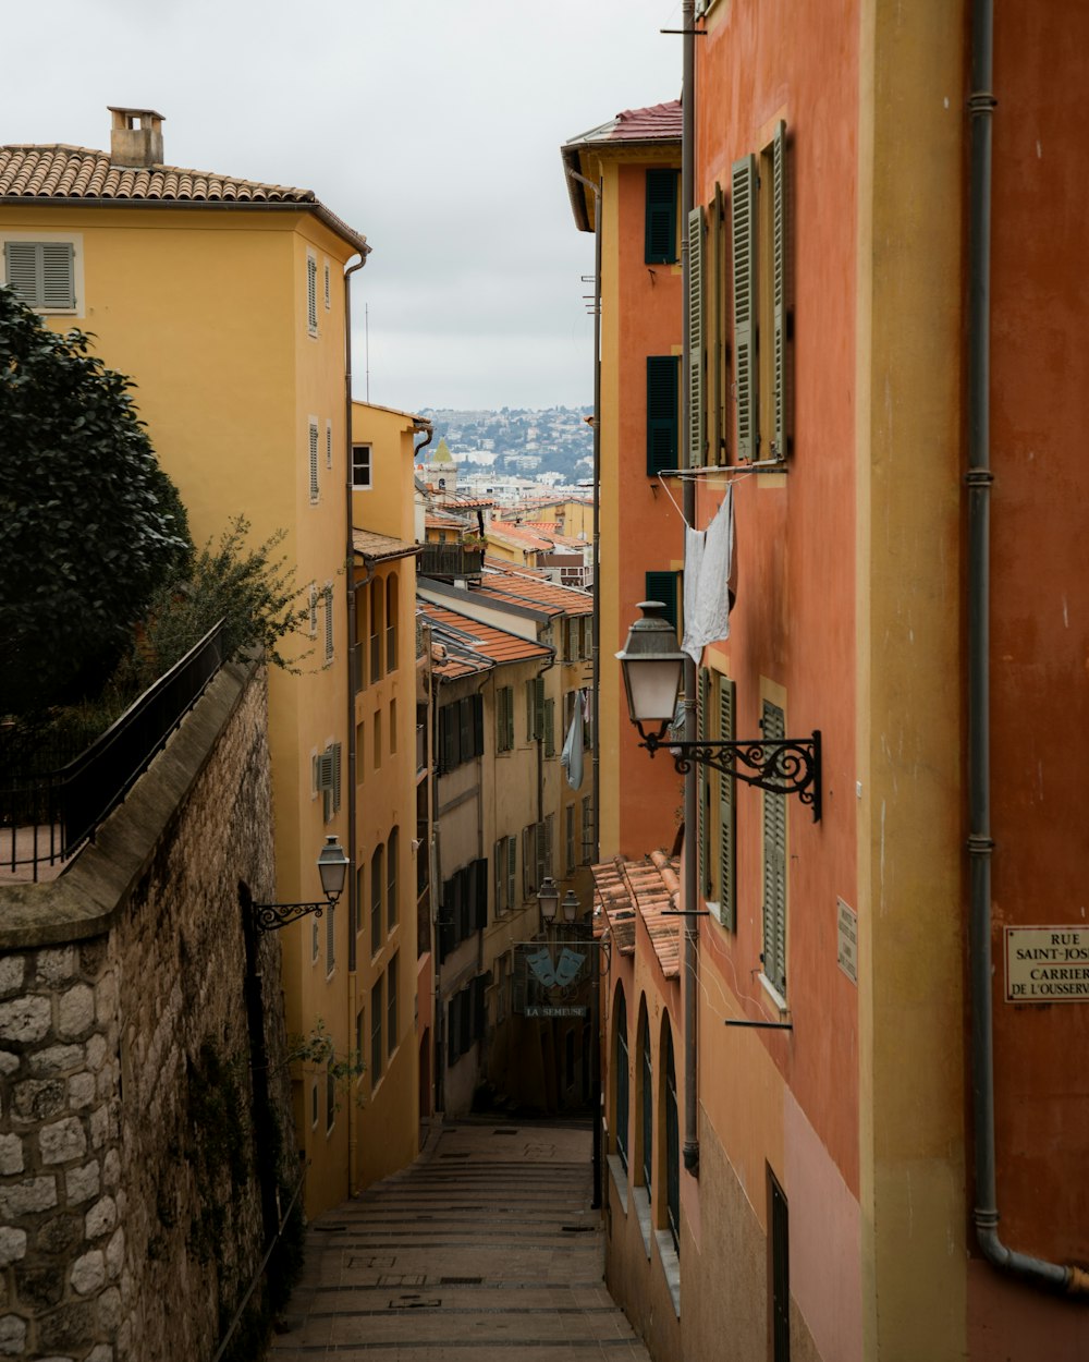
[[[366,1065],[350,1120],[353,1190],[415,1158],[421,1047],[429,1071],[430,1038],[414,1020],[430,990],[430,932],[417,930],[427,844],[417,834],[426,750],[415,755],[412,523],[412,434],[426,429],[403,411],[353,403],[355,741],[346,798],[357,872],[347,959],[353,1032]],[[426,805],[423,814],[426,821]]]

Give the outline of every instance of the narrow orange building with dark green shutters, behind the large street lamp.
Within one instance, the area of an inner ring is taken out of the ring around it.
[[[600,233],[599,655],[640,601],[678,618],[682,520],[659,473],[681,462],[681,105],[617,114],[562,148],[574,223]],[[580,178],[581,177],[581,178]],[[585,181],[591,181],[592,188]],[[670,846],[681,783],[648,767],[615,667],[600,667],[599,854]]]

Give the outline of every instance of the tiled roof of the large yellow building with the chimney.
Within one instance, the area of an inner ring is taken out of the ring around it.
[[[172,206],[278,204],[314,212],[338,236],[366,255],[366,237],[319,202],[313,189],[295,189],[283,184],[261,184],[210,170],[185,170],[181,166],[121,166],[105,151],[69,146],[0,147],[0,199],[80,202],[118,207],[142,203]]]

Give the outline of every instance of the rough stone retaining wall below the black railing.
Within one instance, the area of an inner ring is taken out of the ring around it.
[[[279,944],[240,881],[271,896],[253,665],[65,874],[0,889],[0,1358],[215,1352],[298,1177]]]

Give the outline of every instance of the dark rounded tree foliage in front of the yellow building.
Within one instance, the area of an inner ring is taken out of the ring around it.
[[[0,289],[0,714],[101,684],[192,545],[132,383]]]

